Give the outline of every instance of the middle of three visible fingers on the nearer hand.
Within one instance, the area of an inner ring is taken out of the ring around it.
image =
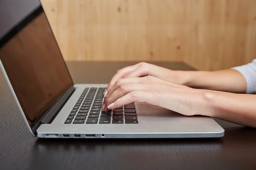
[[[132,91],[153,91],[154,87],[155,85],[152,84],[123,84],[116,91],[114,91],[113,94],[108,97],[108,99],[105,99],[104,104],[105,106],[108,106],[111,103],[115,102],[117,99],[125,96]]]

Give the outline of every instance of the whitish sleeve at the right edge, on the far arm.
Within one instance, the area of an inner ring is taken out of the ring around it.
[[[241,74],[243,74],[244,78],[246,79],[246,93],[256,94],[256,59],[254,59],[253,62],[247,65],[241,65],[238,67],[234,67],[232,69],[239,71]]]

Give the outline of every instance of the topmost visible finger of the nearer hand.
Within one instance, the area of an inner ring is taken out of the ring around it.
[[[111,89],[108,91],[108,94],[105,96],[105,99],[108,99],[111,94],[116,91],[121,85],[123,84],[129,84],[129,83],[153,83],[153,78],[150,77],[129,77],[129,78],[123,78],[118,79],[116,83],[111,87]]]

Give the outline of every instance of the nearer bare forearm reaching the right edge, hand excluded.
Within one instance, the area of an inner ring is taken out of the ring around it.
[[[256,96],[250,94],[232,94],[219,91],[204,91],[198,107],[200,114],[223,119],[236,124],[256,127]]]

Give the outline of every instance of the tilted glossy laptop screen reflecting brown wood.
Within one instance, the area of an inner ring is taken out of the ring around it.
[[[73,85],[38,0],[0,0],[0,60],[31,128]]]

